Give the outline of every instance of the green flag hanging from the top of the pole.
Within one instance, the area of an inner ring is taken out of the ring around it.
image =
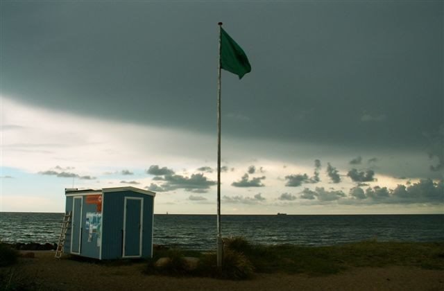
[[[239,79],[251,71],[250,62],[244,50],[223,28],[221,28],[221,68],[236,74]]]

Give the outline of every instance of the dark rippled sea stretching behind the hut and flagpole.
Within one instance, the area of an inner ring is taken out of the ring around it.
[[[63,213],[0,212],[0,241],[58,243]],[[216,245],[216,215],[154,215],[153,243],[208,250]],[[338,245],[362,240],[444,242],[444,214],[222,215],[223,237],[266,245]]]

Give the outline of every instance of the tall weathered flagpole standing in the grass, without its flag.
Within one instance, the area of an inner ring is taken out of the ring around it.
[[[219,22],[219,67],[217,79],[217,266],[222,266],[223,240],[221,236],[221,28]]]

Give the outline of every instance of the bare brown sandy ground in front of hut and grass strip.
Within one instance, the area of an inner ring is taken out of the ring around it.
[[[22,252],[26,254],[27,252]],[[15,266],[41,290],[444,290],[444,271],[417,267],[359,267],[340,274],[258,274],[248,281],[176,278],[143,274],[146,263],[78,261],[54,252],[33,252]]]

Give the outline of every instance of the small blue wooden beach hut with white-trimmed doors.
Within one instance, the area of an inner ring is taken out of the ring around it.
[[[71,211],[63,251],[99,260],[153,255],[155,193],[134,187],[65,189]]]

